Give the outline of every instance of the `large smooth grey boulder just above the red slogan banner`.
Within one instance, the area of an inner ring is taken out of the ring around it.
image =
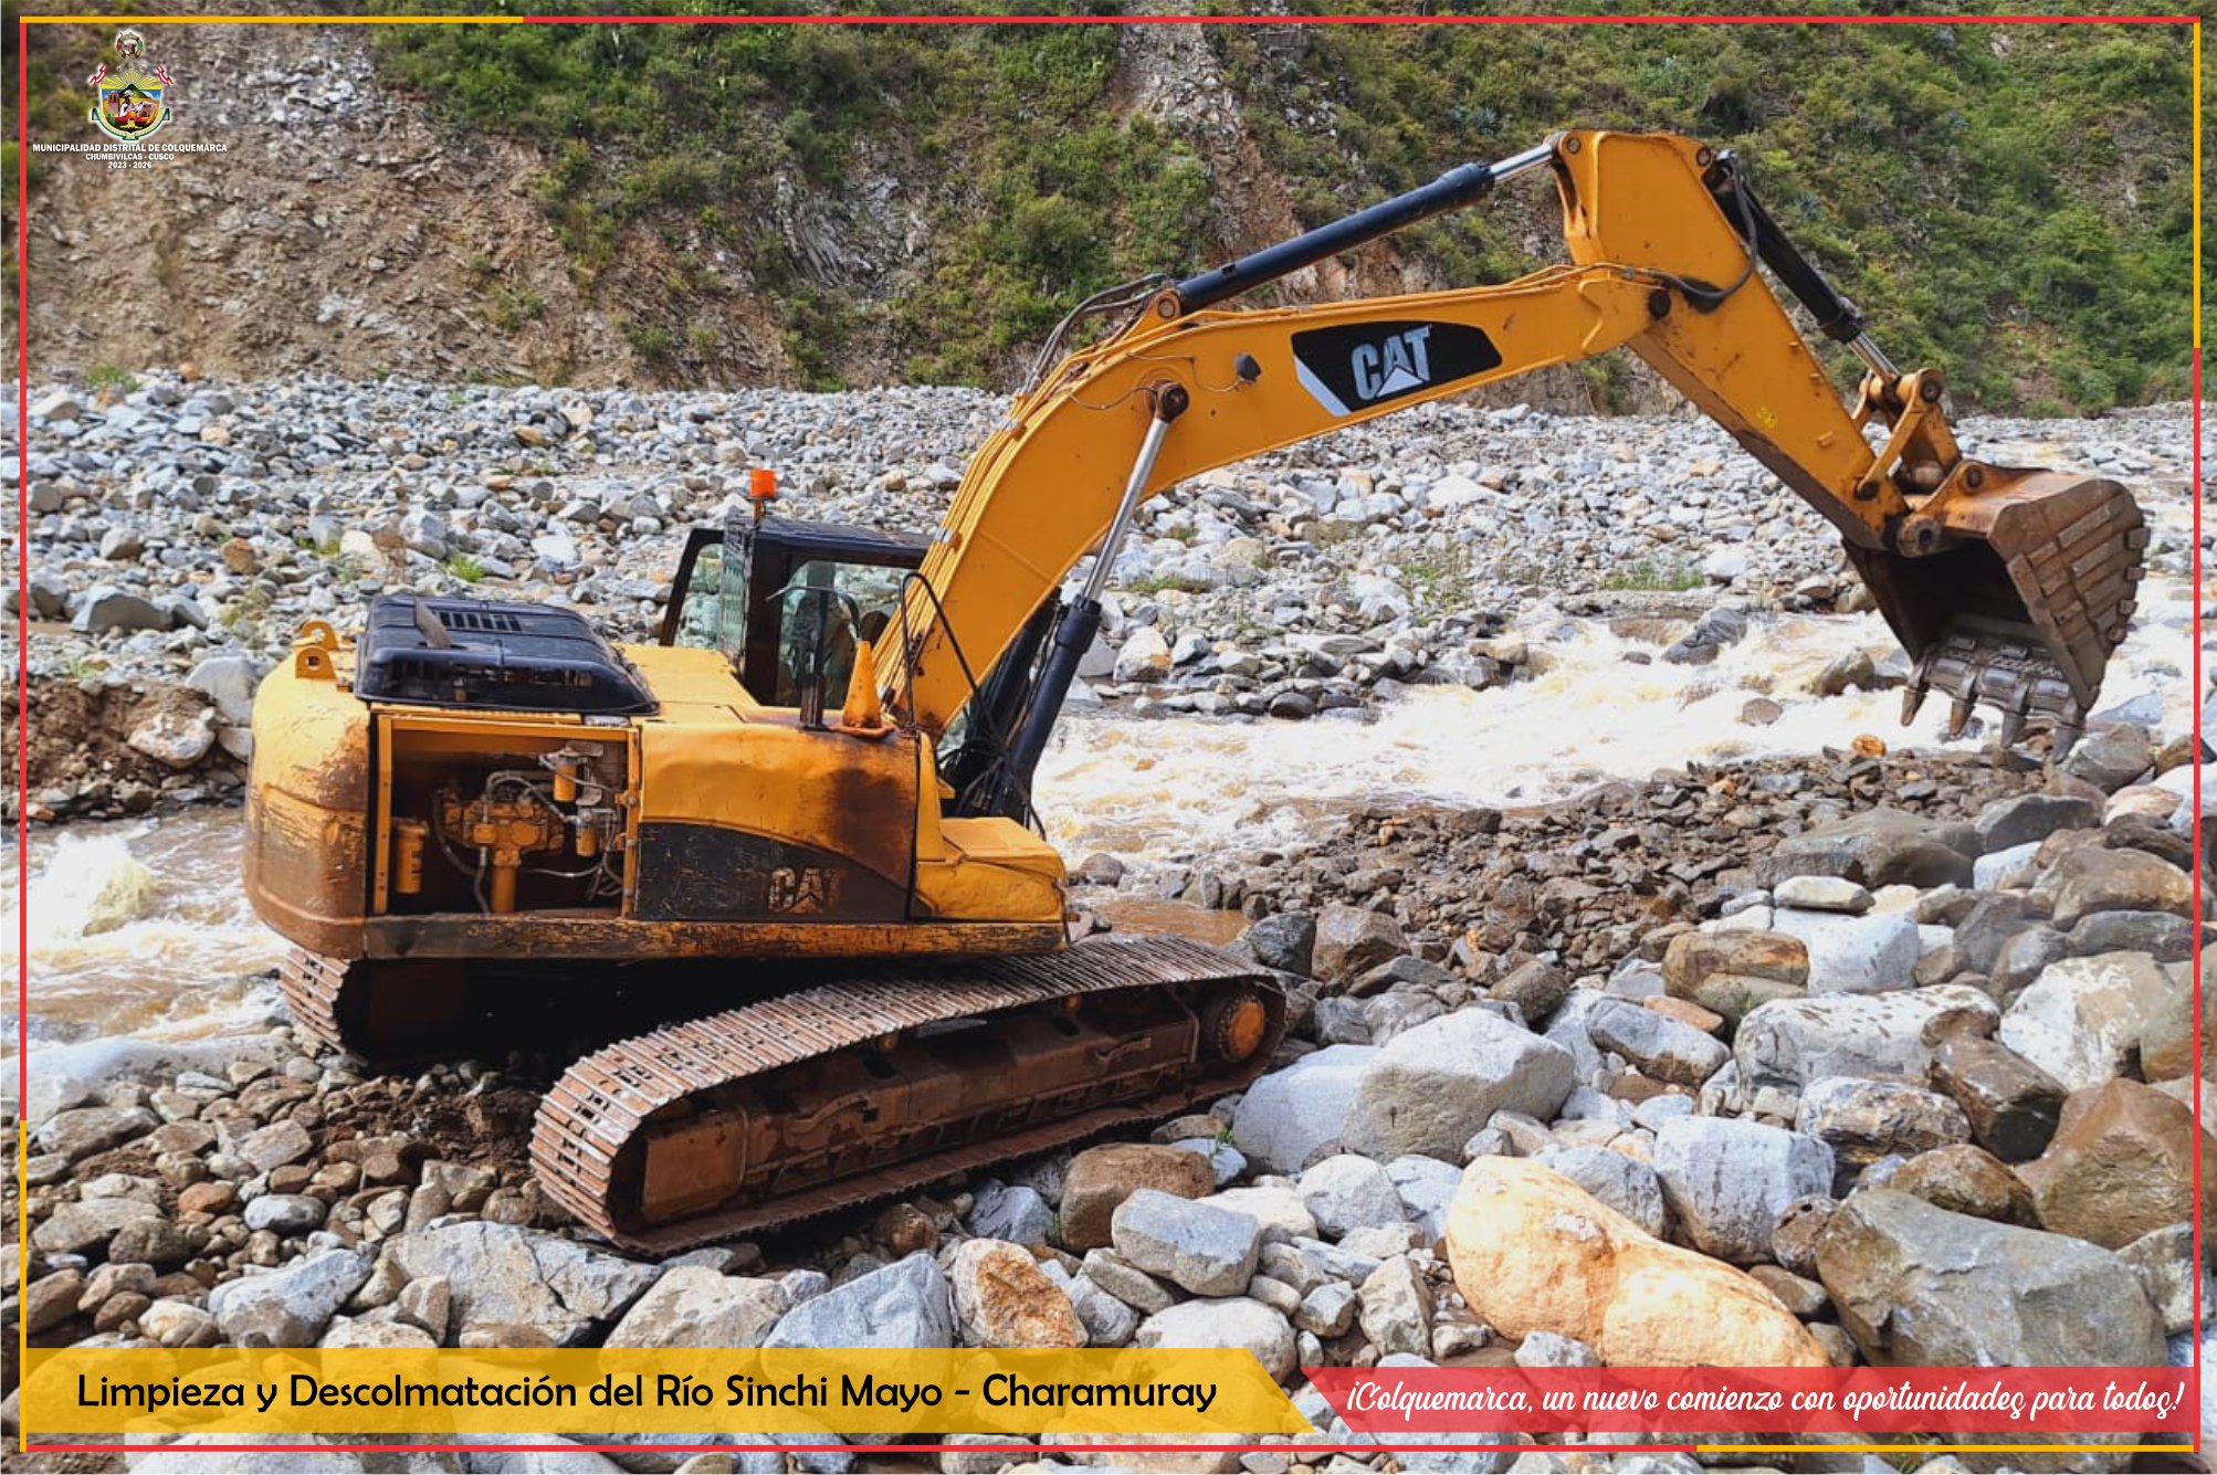
[[[1840,1322],[1882,1366],[2159,1366],[2164,1327],[2117,1256],[1869,1189],[1816,1242]]]

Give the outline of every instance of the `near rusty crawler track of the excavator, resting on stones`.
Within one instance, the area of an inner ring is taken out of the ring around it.
[[[576,1061],[541,1101],[532,1165],[596,1231],[674,1251],[1239,1090],[1284,1028],[1268,972],[1175,937],[880,970]],[[747,1156],[765,1136],[798,1141]]]

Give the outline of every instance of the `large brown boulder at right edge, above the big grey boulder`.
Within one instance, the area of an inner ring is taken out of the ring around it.
[[[2217,1158],[2217,1141],[2193,1110],[2139,1081],[2104,1081],[2064,1103],[2055,1141],[2017,1169],[2040,1223],[2106,1249],[2195,1216],[2195,1147]],[[2201,1194],[2217,1207],[2217,1174]]]

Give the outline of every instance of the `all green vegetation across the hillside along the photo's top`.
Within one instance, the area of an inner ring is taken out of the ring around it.
[[[1202,7],[1235,16],[1253,0]],[[1674,7],[1694,0],[1649,9]],[[1346,9],[1388,7],[1273,13]],[[104,42],[93,27],[33,29],[33,135],[75,135],[80,62]],[[765,372],[767,328],[814,388],[1007,385],[1080,297],[1261,246],[1286,224],[1279,199],[1315,226],[1592,124],[1740,151],[1887,350],[1944,368],[1966,408],[2102,410],[2188,385],[2186,27],[1982,27],[1949,11],[1887,27],[1206,27],[1224,86],[1166,82],[1188,109],[1244,122],[1259,157],[1237,164],[1135,106],[1142,47],[1117,27],[441,24],[377,27],[372,44],[386,80],[452,128],[539,151],[572,279],[672,383]],[[1430,281],[1481,283],[1559,259],[1552,237],[1552,202],[1525,182],[1414,226],[1399,250]],[[490,259],[459,266],[492,326],[525,332],[548,310]],[[1856,365],[1831,357],[1845,385]],[[1616,361],[1581,372],[1596,405],[1629,403]]]

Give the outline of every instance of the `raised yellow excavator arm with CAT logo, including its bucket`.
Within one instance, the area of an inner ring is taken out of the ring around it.
[[[1257,312],[1213,303],[1523,173],[1554,173],[1570,266],[1501,286]],[[1867,365],[1845,405],[1756,261]],[[2131,494],[1973,461],[1933,370],[1900,372],[1782,237],[1731,155],[1676,135],[1559,133],[1179,283],[1104,295],[1128,314],[1062,337],[973,456],[920,578],[878,642],[893,713],[938,738],[1086,551],[1033,698],[998,740],[1029,784],[1137,503],[1188,476],[1552,363],[1627,348],[1840,532],[1951,731],[1973,702],[2075,740],[2124,638],[2146,529]],[[1075,317],[1075,314],[1073,314]],[[1069,328],[1069,326],[1066,326]],[[1051,363],[1051,368],[1046,368]],[[1884,432],[1878,447],[1867,430]],[[1038,629],[1038,627],[1033,627]]]

